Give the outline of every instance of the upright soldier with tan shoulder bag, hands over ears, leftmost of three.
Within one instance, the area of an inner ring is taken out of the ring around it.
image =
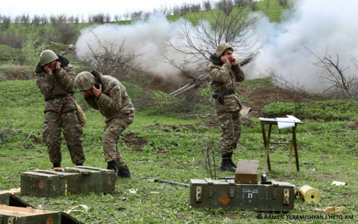
[[[36,83],[45,99],[45,122],[43,140],[47,145],[50,161],[54,167],[61,166],[61,129],[73,164],[83,165],[85,154],[82,147],[82,127],[76,114],[76,107],[67,93],[74,92],[72,65],[62,55],[45,50],[40,55],[36,69]],[[74,97],[74,96],[73,96]]]

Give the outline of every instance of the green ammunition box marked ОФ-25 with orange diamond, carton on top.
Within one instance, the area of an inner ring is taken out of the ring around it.
[[[293,210],[294,187],[287,182],[237,184],[233,180],[190,180],[190,205],[254,211]]]

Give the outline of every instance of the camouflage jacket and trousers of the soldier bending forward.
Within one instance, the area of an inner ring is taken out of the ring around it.
[[[125,87],[111,76],[101,76],[102,92],[97,96],[90,96],[86,102],[106,117],[105,131],[102,136],[103,150],[106,162],[116,161],[116,168],[122,169],[124,162],[117,144],[119,135],[133,123],[134,107]]]

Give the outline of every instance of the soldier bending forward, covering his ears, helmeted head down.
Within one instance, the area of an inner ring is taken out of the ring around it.
[[[118,170],[117,177],[130,178],[131,172],[117,147],[119,135],[134,120],[134,106],[125,87],[117,79],[97,71],[79,73],[75,85],[78,91],[83,91],[86,102],[106,117],[102,143],[107,169]]]

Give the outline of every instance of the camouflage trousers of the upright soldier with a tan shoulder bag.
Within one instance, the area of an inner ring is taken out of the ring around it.
[[[65,137],[68,151],[73,164],[85,162],[82,147],[82,127],[77,118],[76,110],[70,110],[57,119],[57,112],[46,111],[43,125],[43,141],[47,145],[47,152],[52,163],[60,163],[61,156],[61,129]]]

